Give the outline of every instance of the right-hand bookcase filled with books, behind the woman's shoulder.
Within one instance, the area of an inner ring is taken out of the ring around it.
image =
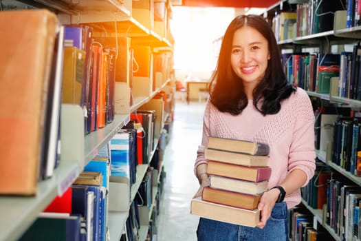
[[[316,163],[310,189],[303,193],[303,206],[314,219],[302,225],[309,222],[318,231],[321,224],[326,231],[320,227],[320,233],[330,235],[327,240],[360,240],[360,12],[351,14],[356,1],[347,6],[293,2],[278,1],[264,17],[274,24],[287,78],[314,105],[316,156],[323,165]],[[326,17],[324,12],[334,14]]]

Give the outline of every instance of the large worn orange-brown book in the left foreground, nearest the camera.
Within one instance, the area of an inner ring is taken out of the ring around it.
[[[36,194],[57,24],[48,10],[0,12],[1,194]]]

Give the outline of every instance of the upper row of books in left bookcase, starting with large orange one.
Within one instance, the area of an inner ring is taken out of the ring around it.
[[[62,103],[83,109],[84,135],[103,128],[115,114],[130,114],[133,97],[147,98],[165,83],[171,54],[153,53],[150,46],[131,46],[126,37],[96,39],[91,26],[59,25],[56,15],[48,10],[3,11],[0,18],[3,23],[8,19],[25,23],[17,32],[10,25],[1,27],[7,36],[1,39],[1,46],[19,46],[5,47],[7,52],[1,58],[6,73],[1,93],[7,96],[0,103],[2,116],[7,116],[1,119],[6,140],[1,148],[5,158],[14,160],[11,165],[1,165],[6,172],[1,180],[19,176],[19,182],[3,182],[0,193],[32,196],[37,182],[52,177],[61,160]],[[153,75],[157,76],[154,86]],[[127,88],[118,87],[124,85]],[[136,90],[144,89],[146,92],[136,95]],[[158,133],[163,117],[157,112]]]

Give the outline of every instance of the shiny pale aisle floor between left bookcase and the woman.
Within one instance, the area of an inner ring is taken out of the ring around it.
[[[201,142],[205,102],[175,102],[171,140],[164,153],[164,191],[157,219],[157,241],[195,241],[198,217],[190,214],[190,200],[199,184],[193,174]]]

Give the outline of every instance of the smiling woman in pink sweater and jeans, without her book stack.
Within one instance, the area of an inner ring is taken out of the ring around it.
[[[300,202],[300,187],[316,167],[314,112],[305,91],[287,83],[274,33],[262,17],[236,17],[223,36],[195,161],[195,197],[209,185],[208,136],[267,143],[272,174],[257,227],[200,218],[198,240],[287,240],[287,209]]]

